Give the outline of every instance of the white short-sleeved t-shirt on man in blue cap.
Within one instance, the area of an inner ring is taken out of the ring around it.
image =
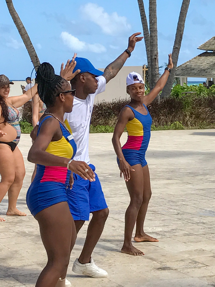
[[[74,97],[73,110],[71,113],[65,113],[64,121],[69,124],[75,143],[77,152],[74,160],[81,160],[90,163],[89,160],[89,126],[93,111],[94,98],[97,94],[105,91],[106,79],[103,76],[96,77],[98,80],[98,88],[95,94],[89,94],[86,100]]]

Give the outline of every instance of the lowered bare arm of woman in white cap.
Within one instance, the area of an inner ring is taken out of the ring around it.
[[[128,121],[131,121],[134,118],[134,114],[132,110],[128,107],[125,107],[121,110],[119,115],[118,122],[114,129],[114,135],[112,137],[112,144],[114,146],[114,150],[120,162],[120,177],[122,177],[122,173],[124,175],[125,181],[129,181],[130,179],[130,170],[134,171],[134,169],[126,162],[124,155],[122,153],[122,147],[120,144],[120,137],[126,127]]]

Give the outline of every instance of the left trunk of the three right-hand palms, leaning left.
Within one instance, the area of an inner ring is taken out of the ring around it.
[[[138,0],[138,5],[139,5],[139,10],[140,10],[141,22],[142,22],[143,36],[144,36],[144,41],[145,41],[145,46],[146,46],[146,57],[147,57],[148,74],[149,74],[149,81],[150,81],[150,35],[148,31],[148,23],[147,23],[143,0]]]

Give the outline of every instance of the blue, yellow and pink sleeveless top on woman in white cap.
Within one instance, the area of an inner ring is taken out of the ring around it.
[[[144,104],[143,106],[146,108]],[[132,110],[134,119],[128,121],[126,124],[128,139],[122,149],[146,151],[150,140],[152,124],[150,113],[147,108],[147,115],[142,115],[131,106],[126,105],[126,107]]]

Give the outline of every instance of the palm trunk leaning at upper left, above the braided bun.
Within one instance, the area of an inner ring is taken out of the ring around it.
[[[34,67],[36,66],[39,66],[40,65],[40,61],[39,61],[39,58],[37,56],[37,53],[34,49],[34,46],[30,40],[30,37],[28,36],[28,33],[24,27],[24,25],[22,24],[20,18],[19,18],[19,15],[17,14],[15,8],[13,7],[13,2],[12,0],[6,0],[6,3],[7,3],[7,7],[8,7],[8,10],[9,10],[9,13],[13,19],[13,22],[14,24],[16,25],[16,28],[26,46],[26,49],[28,51],[28,54],[31,58],[31,61],[34,65]]]

